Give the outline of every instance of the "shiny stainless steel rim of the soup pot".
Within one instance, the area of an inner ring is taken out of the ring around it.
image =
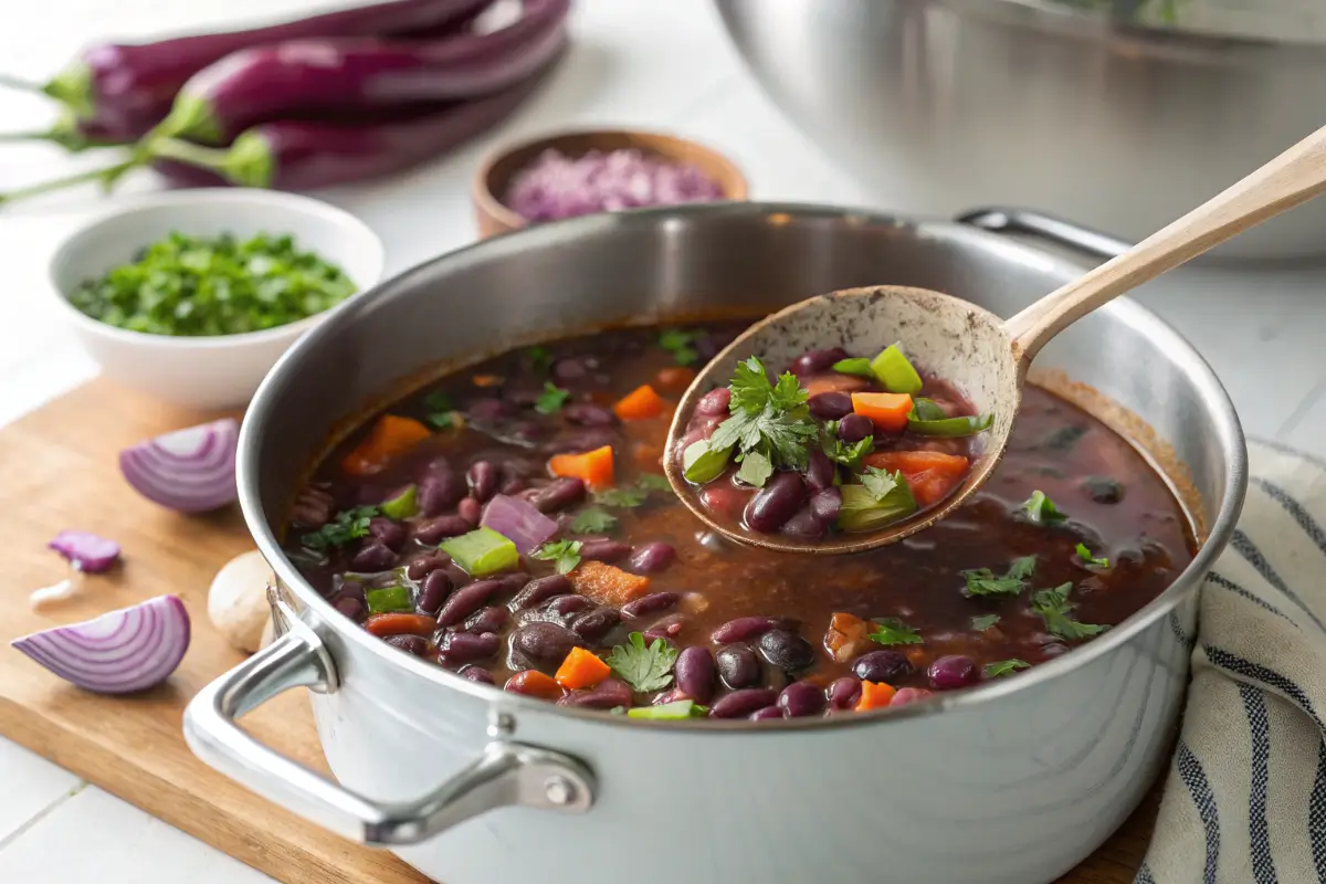
[[[1109,655],[1120,647],[1130,637],[1142,632],[1163,616],[1170,615],[1174,608],[1189,594],[1197,590],[1205,574],[1211,570],[1217,555],[1217,550],[1233,533],[1235,522],[1242,509],[1244,494],[1248,484],[1248,451],[1244,441],[1242,428],[1235,412],[1233,403],[1220,384],[1211,366],[1177,331],[1170,327],[1156,314],[1151,313],[1140,304],[1130,298],[1119,298],[1103,307],[1116,313],[1123,313],[1130,325],[1138,326],[1148,337],[1159,341],[1171,355],[1180,358],[1193,378],[1197,379],[1201,391],[1208,402],[1215,403],[1216,425],[1212,431],[1220,440],[1221,448],[1228,456],[1229,467],[1225,476],[1225,496],[1220,501],[1215,518],[1211,524],[1207,541],[1197,550],[1196,557],[1175,582],[1150,604],[1135,612],[1131,618],[1114,627],[1093,641],[1074,648],[1069,653],[1040,664],[1016,679],[1006,679],[967,688],[951,694],[940,693],[934,700],[910,704],[899,709],[879,709],[863,714],[833,716],[829,718],[792,718],[784,721],[761,722],[760,726],[751,726],[747,721],[711,721],[696,718],[690,721],[638,721],[626,716],[603,714],[602,712],[583,710],[569,706],[554,706],[542,700],[533,700],[518,694],[512,694],[491,685],[477,684],[440,667],[424,663],[418,657],[402,653],[386,644],[381,639],[370,635],[358,624],[351,623],[335,608],[332,607],[294,569],[286,558],[284,550],[277,543],[276,535],[267,522],[259,493],[259,448],[264,415],[278,407],[281,388],[286,378],[293,375],[305,351],[320,346],[324,338],[334,334],[335,329],[345,323],[354,322],[359,311],[373,310],[374,301],[387,292],[408,289],[418,277],[427,273],[440,262],[464,265],[469,261],[514,257],[529,244],[556,244],[572,239],[578,239],[595,232],[606,232],[614,228],[651,229],[663,227],[666,229],[670,219],[683,219],[693,215],[716,213],[729,219],[766,220],[774,216],[785,216],[796,220],[825,220],[846,221],[849,224],[880,225],[880,227],[911,227],[920,236],[927,228],[944,228],[947,236],[969,237],[984,243],[988,248],[1005,249],[1016,253],[1021,260],[1034,260],[1057,265],[1067,274],[1081,273],[1082,268],[1058,258],[1040,249],[1010,241],[996,233],[989,233],[976,228],[968,228],[945,220],[914,220],[891,216],[867,209],[851,209],[843,207],[818,205],[806,203],[704,203],[680,207],[646,208],[606,215],[589,215],[565,221],[533,225],[520,231],[513,231],[501,236],[463,247],[455,252],[442,254],[436,258],[419,264],[390,280],[379,284],[371,292],[343,302],[334,307],[328,318],[314,330],[304,335],[290,347],[276,363],[272,371],[263,380],[257,394],[244,416],[240,428],[239,456],[236,481],[239,485],[240,509],[244,521],[257,543],[264,558],[273,567],[280,582],[294,592],[300,600],[317,615],[321,624],[317,628],[330,628],[345,640],[354,643],[363,652],[378,655],[383,661],[402,667],[414,675],[434,681],[442,688],[460,691],[472,697],[491,701],[503,712],[528,710],[541,714],[557,714],[578,718],[597,726],[658,726],[668,730],[692,730],[703,733],[740,732],[744,734],[778,734],[789,730],[822,730],[825,733],[838,728],[866,726],[882,721],[900,721],[912,716],[935,714],[949,709],[977,708],[981,704],[992,702],[1000,697],[1030,689],[1083,667],[1091,661]],[[813,293],[808,293],[813,294]],[[648,319],[654,322],[654,319]],[[560,337],[560,335],[558,335]],[[1191,636],[1189,636],[1191,641]]]

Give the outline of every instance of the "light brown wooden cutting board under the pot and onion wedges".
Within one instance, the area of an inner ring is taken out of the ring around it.
[[[198,761],[180,736],[194,693],[241,659],[207,620],[212,574],[252,547],[239,509],[183,517],[138,497],[117,453],[217,415],[188,414],[97,379],[0,428],[0,733],[286,884],[420,884],[383,851],[351,844],[245,791]],[[28,594],[68,575],[46,542],[74,527],[117,539],[122,567],[88,577],[77,598],[36,614]],[[194,622],[171,680],[134,697],[82,692],[7,647],[19,635],[172,592]],[[308,701],[282,694],[244,718],[259,740],[325,771]],[[1130,884],[1159,790],[1061,884]]]

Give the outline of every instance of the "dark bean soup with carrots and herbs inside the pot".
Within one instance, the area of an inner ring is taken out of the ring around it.
[[[640,718],[752,720],[1016,677],[1191,561],[1162,477],[1037,387],[989,482],[900,543],[814,558],[707,531],[668,489],[663,447],[693,366],[741,327],[570,338],[398,402],[318,467],[292,561],[373,635],[473,681]],[[945,417],[969,414],[927,390]],[[876,451],[896,448],[876,433]],[[724,474],[715,488],[748,502]]]

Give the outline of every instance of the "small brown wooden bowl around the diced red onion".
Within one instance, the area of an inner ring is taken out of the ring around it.
[[[505,147],[484,160],[475,175],[471,195],[479,236],[487,239],[528,224],[503,200],[516,174],[538,159],[545,150],[556,150],[575,158],[594,150],[607,152],[622,148],[635,148],[660,159],[690,163],[717,182],[723,199],[747,199],[747,180],[741,170],[727,156],[704,144],[674,135],[629,130],[564,133]]]

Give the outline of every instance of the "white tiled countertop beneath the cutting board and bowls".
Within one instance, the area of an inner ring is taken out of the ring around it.
[[[4,73],[37,80],[80,45],[107,34],[142,37],[326,4],[42,0],[20,5],[19,20],[11,12],[8,27],[0,28],[0,60]],[[473,239],[467,187],[477,158],[497,142],[568,125],[626,125],[676,130],[712,143],[744,168],[756,197],[873,204],[764,98],[705,0],[578,0],[573,30],[575,48],[554,82],[499,131],[408,175],[320,196],[358,213],[382,235],[394,272]],[[48,113],[34,97],[0,91],[0,129],[40,127]],[[3,146],[0,191],[94,162],[93,156],[72,160],[45,146]],[[145,175],[130,180],[125,192],[155,187]],[[0,315],[7,317],[0,322],[0,423],[95,372],[42,305],[42,289],[45,258],[54,244],[103,204],[105,197],[88,187],[0,212]],[[1148,286],[1142,300],[1205,354],[1249,435],[1326,455],[1323,289],[1326,262],[1196,268]],[[69,850],[70,832],[78,834],[77,850]],[[0,881],[89,879],[102,884],[271,880],[0,738]]]

